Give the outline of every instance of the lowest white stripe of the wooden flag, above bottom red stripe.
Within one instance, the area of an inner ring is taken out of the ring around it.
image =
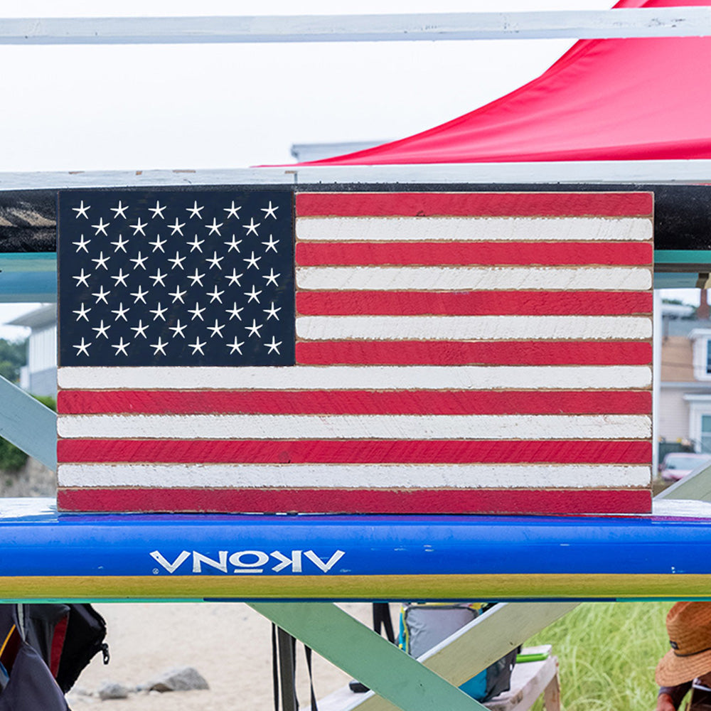
[[[60,464],[59,486],[626,488],[648,466],[618,464]]]

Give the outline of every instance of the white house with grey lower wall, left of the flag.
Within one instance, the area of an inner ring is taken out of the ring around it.
[[[33,395],[57,395],[57,304],[46,304],[9,321],[31,329],[27,365],[20,370],[20,387]]]

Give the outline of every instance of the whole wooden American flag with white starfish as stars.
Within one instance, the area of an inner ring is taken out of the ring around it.
[[[646,511],[651,212],[648,193],[62,193],[59,504]]]

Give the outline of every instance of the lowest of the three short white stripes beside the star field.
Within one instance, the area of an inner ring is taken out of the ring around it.
[[[522,341],[651,338],[648,316],[301,316],[296,335],[311,341]]]

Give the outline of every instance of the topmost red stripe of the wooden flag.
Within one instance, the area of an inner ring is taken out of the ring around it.
[[[296,215],[651,215],[651,193],[296,193]]]

